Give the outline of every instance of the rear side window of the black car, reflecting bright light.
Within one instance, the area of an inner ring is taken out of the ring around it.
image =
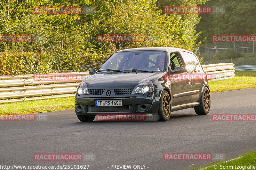
[[[200,70],[200,65],[197,57],[194,54],[181,52],[184,62],[186,63],[187,70],[192,73]]]

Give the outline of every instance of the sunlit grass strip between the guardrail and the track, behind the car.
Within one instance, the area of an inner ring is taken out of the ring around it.
[[[256,71],[239,71],[235,72],[235,74],[236,78],[209,82],[211,93],[256,88]],[[0,104],[0,116],[74,109],[74,100],[75,97],[63,97]]]

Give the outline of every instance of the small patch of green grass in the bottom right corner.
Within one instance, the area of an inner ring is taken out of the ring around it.
[[[235,167],[236,166],[236,167]],[[245,167],[246,166],[246,167]],[[251,151],[242,155],[241,158],[226,161],[218,161],[217,164],[209,165],[204,170],[220,170],[220,169],[254,169],[256,168],[256,151]],[[238,167],[238,168],[237,168]],[[195,170],[196,168],[191,168],[190,170]]]

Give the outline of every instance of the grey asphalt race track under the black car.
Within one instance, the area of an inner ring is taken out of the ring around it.
[[[148,170],[172,170],[204,167],[213,160],[163,160],[163,153],[222,153],[228,160],[255,150],[256,122],[216,122],[211,114],[256,113],[256,88],[213,93],[211,100],[208,115],[185,109],[172,112],[168,122],[79,122],[74,110],[42,113],[48,116],[44,121],[0,121],[0,165],[90,165],[90,170],[146,165]],[[95,157],[35,161],[35,153]]]

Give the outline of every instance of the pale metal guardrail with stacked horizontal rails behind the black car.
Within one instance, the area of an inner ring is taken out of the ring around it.
[[[235,77],[233,63],[202,65],[209,81]],[[0,103],[75,96],[88,72],[0,76]]]

